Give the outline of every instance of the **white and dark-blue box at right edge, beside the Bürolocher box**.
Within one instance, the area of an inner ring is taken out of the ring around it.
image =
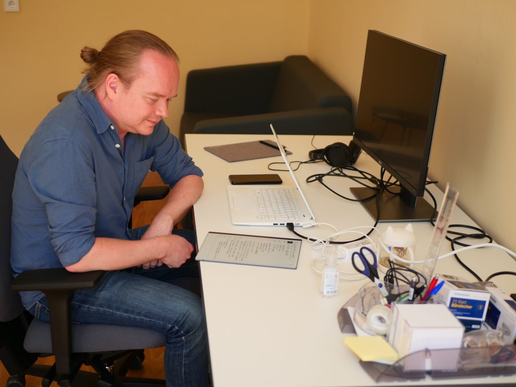
[[[491,299],[486,314],[486,323],[492,329],[504,332],[505,344],[516,340],[516,302],[497,287],[486,286]]]

